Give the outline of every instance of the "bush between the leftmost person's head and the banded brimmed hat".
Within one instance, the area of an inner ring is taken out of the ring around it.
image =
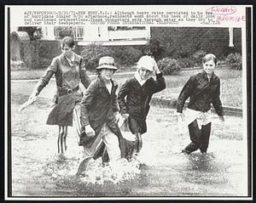
[[[96,70],[99,59],[103,56],[113,56],[113,51],[106,47],[102,47],[102,45],[91,43],[86,48],[84,48],[81,56],[84,59],[86,70]]]

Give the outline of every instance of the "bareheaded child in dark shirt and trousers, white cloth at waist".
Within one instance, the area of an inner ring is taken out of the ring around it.
[[[203,71],[191,76],[183,87],[177,99],[177,116],[183,117],[183,105],[189,98],[186,110],[186,122],[189,125],[191,143],[183,149],[183,153],[200,149],[206,153],[211,133],[211,104],[221,121],[224,121],[224,110],[219,99],[220,82],[214,74],[217,59],[213,54],[207,54],[202,59]]]

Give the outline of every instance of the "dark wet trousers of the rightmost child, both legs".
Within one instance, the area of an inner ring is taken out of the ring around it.
[[[188,146],[186,146],[186,148],[184,149],[185,152],[190,154],[197,149],[200,149],[201,153],[207,152],[211,133],[211,126],[212,123],[210,122],[207,125],[202,126],[200,130],[196,120],[191,122],[189,124],[189,136],[192,142]]]

